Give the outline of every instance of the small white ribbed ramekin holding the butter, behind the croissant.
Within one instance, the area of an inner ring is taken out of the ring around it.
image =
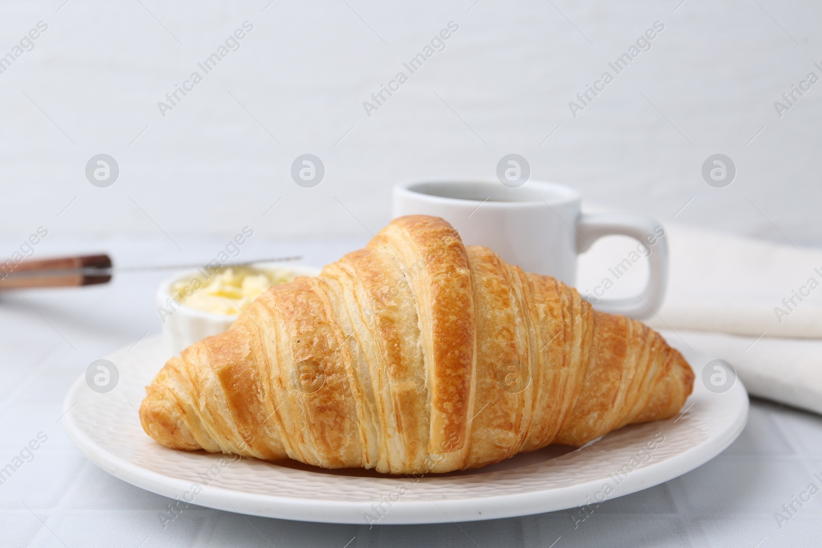
[[[290,272],[295,276],[315,277],[320,270],[313,266],[284,265],[283,263],[255,263],[252,266],[261,270],[279,270]],[[222,333],[237,320],[237,315],[214,314],[186,306],[171,296],[171,286],[180,279],[196,278],[196,270],[178,272],[159,284],[157,289],[157,314],[163,330],[166,348],[178,354],[184,348],[208,337]]]

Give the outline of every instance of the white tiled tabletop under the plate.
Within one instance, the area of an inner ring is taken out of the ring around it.
[[[60,242],[109,249],[116,264],[202,260],[214,242]],[[261,242],[254,256],[302,253],[321,265],[363,242]],[[252,253],[252,251],[248,251]],[[182,259],[181,259],[182,258]],[[249,256],[250,258],[250,256]],[[0,546],[822,546],[822,493],[782,527],[774,513],[822,476],[822,417],[754,400],[740,438],[667,483],[609,500],[575,529],[573,511],[420,526],[328,525],[192,506],[168,527],[169,499],[110,476],[67,439],[58,419],[91,361],[159,330],[157,283],[122,274],[107,286],[0,295],[0,467],[39,432],[34,459],[0,485]],[[43,436],[41,435],[41,438]],[[646,509],[647,508],[647,509]],[[555,543],[555,544],[552,544]]]

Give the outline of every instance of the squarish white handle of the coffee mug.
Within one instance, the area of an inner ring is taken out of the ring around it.
[[[662,235],[658,234],[662,231]],[[583,253],[603,236],[621,235],[632,237],[649,248],[648,284],[636,297],[625,299],[597,299],[591,304],[598,311],[623,314],[636,320],[648,318],[663,303],[668,275],[668,249],[666,233],[662,226],[650,217],[641,215],[605,213],[580,214],[576,223],[577,252]],[[653,243],[652,243],[653,242]]]

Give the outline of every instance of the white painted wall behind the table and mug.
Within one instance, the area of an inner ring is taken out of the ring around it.
[[[822,76],[818,2],[62,2],[0,4],[0,55],[48,24],[0,74],[4,241],[39,225],[61,237],[223,237],[246,224],[363,236],[360,223],[390,219],[394,182],[494,177],[515,152],[533,178],[663,223],[693,198],[677,221],[822,242],[822,83],[781,119],[774,109],[809,71]],[[164,94],[246,20],[242,48],[161,117]],[[367,117],[369,94],[452,20],[446,50]],[[665,30],[653,48],[572,117],[568,102],[654,21]],[[289,176],[307,152],[326,165],[309,189]],[[99,153],[118,160],[113,187],[85,179]],[[737,164],[729,187],[701,177],[714,153]]]

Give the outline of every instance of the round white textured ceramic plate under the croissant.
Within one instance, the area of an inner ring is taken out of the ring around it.
[[[584,448],[549,446],[467,472],[415,479],[332,471],[292,461],[182,452],[155,443],[143,432],[137,408],[145,385],[168,358],[163,348],[159,336],[153,336],[131,352],[109,356],[119,380],[108,393],[91,390],[85,375],[77,379],[63,409],[68,435],[92,462],[135,486],[187,503],[270,518],[442,523],[595,504],[658,485],[709,461],[737,438],[748,415],[741,382],[714,394],[700,375],[711,358],[688,352],[697,375],[694,394],[679,417],[627,426]]]

